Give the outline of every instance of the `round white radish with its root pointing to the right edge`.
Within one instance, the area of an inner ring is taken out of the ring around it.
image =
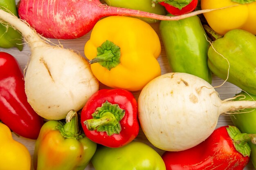
[[[220,114],[254,107],[254,101],[222,101],[211,84],[187,73],[153,79],[138,98],[143,132],[151,144],[168,151],[200,144],[216,128]]]

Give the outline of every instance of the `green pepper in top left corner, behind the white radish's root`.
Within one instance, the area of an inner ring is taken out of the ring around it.
[[[11,12],[18,16],[15,0],[0,0],[1,9]],[[17,47],[20,51],[23,49],[22,35],[17,30],[7,24],[0,25],[0,47]]]

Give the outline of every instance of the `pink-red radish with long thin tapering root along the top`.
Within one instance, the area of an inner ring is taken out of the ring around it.
[[[88,33],[96,22],[110,15],[126,15],[157,20],[180,20],[210,10],[180,16],[164,16],[143,11],[110,7],[99,0],[20,0],[18,13],[46,38],[74,39]]]

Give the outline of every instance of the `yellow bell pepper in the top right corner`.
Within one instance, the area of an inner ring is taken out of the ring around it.
[[[238,4],[231,0],[201,0],[202,9],[231,5],[238,6],[204,13],[209,26],[220,35],[232,29],[243,29],[256,35],[256,2]]]

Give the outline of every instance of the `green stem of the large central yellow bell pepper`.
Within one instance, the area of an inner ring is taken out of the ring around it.
[[[113,42],[106,40],[97,48],[97,57],[89,61],[90,64],[99,63],[101,66],[114,68],[120,63],[120,47]]]

